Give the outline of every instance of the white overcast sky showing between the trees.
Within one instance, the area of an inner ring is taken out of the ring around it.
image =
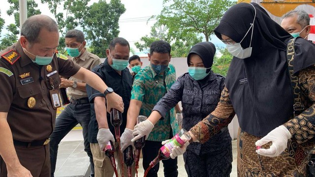
[[[38,3],[38,9],[42,14],[48,15],[54,19],[54,16],[50,13],[46,4],[41,4],[40,0],[35,0]],[[91,0],[90,4],[97,2],[98,0]],[[109,2],[109,0],[106,0]],[[124,37],[129,41],[130,47],[136,52],[138,49],[133,45],[134,42],[140,41],[140,38],[144,35],[149,35],[152,25],[155,20],[149,21],[147,19],[152,15],[158,15],[162,10],[163,0],[121,0],[125,4],[126,12],[120,17],[119,37]],[[10,4],[6,0],[1,0],[1,18],[5,20],[4,29],[2,29],[1,36],[7,31],[6,26],[14,23],[14,17],[8,16],[6,11],[9,9]],[[223,43],[216,37],[211,36],[211,41],[217,46],[224,46]]]

